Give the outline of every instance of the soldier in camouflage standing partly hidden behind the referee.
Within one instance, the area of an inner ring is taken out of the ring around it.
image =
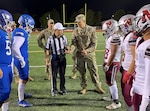
[[[41,47],[44,50],[44,52],[46,51],[45,45],[47,43],[47,39],[54,33],[54,29],[53,29],[54,28],[54,20],[49,19],[47,22],[47,25],[48,25],[48,28],[42,30],[37,37],[38,45],[39,45],[39,47]],[[42,40],[44,40],[45,43],[43,43]],[[44,80],[50,80],[51,71],[50,71],[49,66],[46,66],[45,71],[46,71],[47,77]]]

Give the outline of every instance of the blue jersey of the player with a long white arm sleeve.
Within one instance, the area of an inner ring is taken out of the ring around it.
[[[21,55],[24,57],[24,59],[28,60],[28,37],[29,37],[28,33],[22,28],[16,28],[12,32],[12,43],[14,42],[15,37],[25,38],[23,45],[20,47],[20,52],[21,52]]]

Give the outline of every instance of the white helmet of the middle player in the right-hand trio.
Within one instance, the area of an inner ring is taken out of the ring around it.
[[[131,31],[135,30],[135,15],[127,14],[122,16],[119,21],[118,25],[121,29],[121,32],[126,35]]]

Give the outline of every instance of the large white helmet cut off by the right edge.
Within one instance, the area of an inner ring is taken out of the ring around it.
[[[136,13],[136,31],[141,33],[150,28],[150,4],[144,5]]]

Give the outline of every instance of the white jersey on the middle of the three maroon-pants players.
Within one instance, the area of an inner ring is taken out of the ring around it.
[[[131,45],[136,45],[136,39],[134,33],[129,33],[126,37],[124,37],[122,41],[122,51],[123,51],[123,57],[122,57],[122,67],[124,70],[128,70],[132,61],[132,52],[131,52]]]

